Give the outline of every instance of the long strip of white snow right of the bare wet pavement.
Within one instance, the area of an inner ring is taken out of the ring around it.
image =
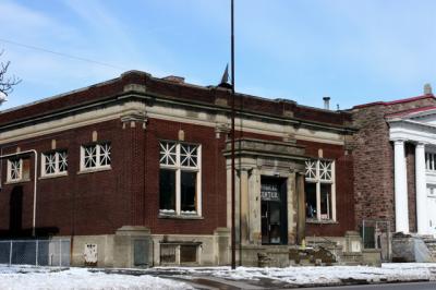
[[[161,268],[164,269],[164,268]],[[255,268],[229,267],[216,268],[175,268],[187,275],[211,275],[232,280],[272,279],[291,285],[336,285],[349,280],[367,282],[436,280],[436,264],[384,264],[382,267],[367,266],[328,266],[328,267],[288,267]]]

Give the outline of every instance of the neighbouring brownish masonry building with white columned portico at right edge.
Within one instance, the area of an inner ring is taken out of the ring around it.
[[[390,231],[436,234],[436,99],[419,97],[353,107],[355,221]],[[373,222],[374,223],[374,222]],[[370,241],[371,243],[371,241]]]

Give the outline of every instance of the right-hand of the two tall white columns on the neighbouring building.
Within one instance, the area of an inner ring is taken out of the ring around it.
[[[425,181],[425,149],[424,144],[416,144],[415,148],[416,176],[416,225],[417,233],[427,233],[427,192]]]

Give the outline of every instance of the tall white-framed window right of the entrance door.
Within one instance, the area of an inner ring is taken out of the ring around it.
[[[336,220],[335,162],[307,160],[304,190],[308,220]]]

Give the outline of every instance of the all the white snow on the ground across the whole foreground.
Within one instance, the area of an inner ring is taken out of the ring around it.
[[[382,267],[328,266],[255,268],[238,267],[156,267],[150,269],[104,269],[56,268],[0,265],[0,289],[192,289],[179,280],[155,276],[217,277],[240,281],[276,280],[293,286],[340,285],[349,281],[389,282],[436,280],[436,264],[384,264]],[[134,275],[126,275],[126,273]]]

